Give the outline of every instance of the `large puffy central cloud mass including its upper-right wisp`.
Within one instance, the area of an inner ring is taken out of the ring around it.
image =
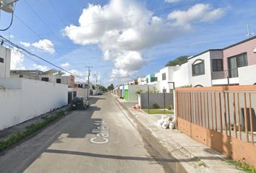
[[[218,19],[220,12],[208,4],[197,4],[188,12],[176,11],[166,19],[155,16],[135,0],[111,0],[105,6],[89,4],[82,11],[79,25],[69,25],[63,31],[75,44],[98,44],[104,59],[115,65],[111,77],[132,76],[146,63],[144,50],[182,35],[196,19]],[[198,18],[200,14],[207,15]]]

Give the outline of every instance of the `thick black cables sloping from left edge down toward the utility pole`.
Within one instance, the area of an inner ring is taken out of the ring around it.
[[[12,41],[8,40],[7,38],[5,38],[5,37],[3,37],[3,36],[1,36],[1,35],[0,35],[0,38],[1,38],[1,40],[4,40],[4,43],[7,43],[7,44],[11,45],[12,47],[18,48],[18,49],[24,51],[25,53],[27,53],[27,54],[30,55],[30,56],[35,56],[36,58],[39,58],[40,60],[42,60],[42,61],[44,61],[44,62],[46,62],[46,63],[51,64],[51,66],[55,66],[56,68],[59,68],[59,69],[61,69],[62,71],[67,72],[68,74],[71,74],[71,75],[73,75],[73,76],[76,76],[77,78],[83,79],[82,77],[77,76],[76,74],[73,74],[73,73],[67,71],[67,70],[64,69],[64,68],[62,68],[62,67],[60,67],[60,66],[57,66],[56,64],[51,63],[50,61],[47,61],[46,59],[41,58],[40,56],[37,56],[37,55],[35,55],[34,53],[31,53],[30,51],[26,50],[25,48],[22,48],[22,47],[20,47],[19,45],[15,44],[15,43],[12,43]],[[83,80],[85,80],[85,79],[83,79]]]

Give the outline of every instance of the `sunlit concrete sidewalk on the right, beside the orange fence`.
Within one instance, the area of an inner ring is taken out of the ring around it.
[[[118,99],[119,103],[148,128],[152,135],[163,144],[170,153],[180,161],[187,172],[242,172],[223,161],[224,156],[217,151],[192,140],[179,130],[158,127],[161,115],[148,115],[142,110],[135,110],[131,102]],[[135,103],[135,102],[133,102]]]

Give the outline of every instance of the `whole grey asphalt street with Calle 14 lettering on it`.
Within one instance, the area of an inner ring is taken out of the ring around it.
[[[0,172],[184,172],[111,94],[1,153]]]

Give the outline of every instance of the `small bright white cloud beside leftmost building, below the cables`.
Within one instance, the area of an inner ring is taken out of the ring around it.
[[[25,70],[23,66],[24,55],[17,50],[17,48],[12,48],[11,50],[11,70]]]

